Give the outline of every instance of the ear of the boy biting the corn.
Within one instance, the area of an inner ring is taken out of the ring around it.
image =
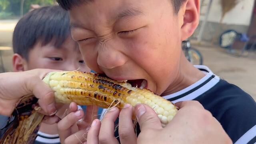
[[[200,0],[187,0],[179,12],[183,23],[181,26],[181,40],[186,40],[196,30],[200,18]]]

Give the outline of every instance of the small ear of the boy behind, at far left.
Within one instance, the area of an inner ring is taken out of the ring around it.
[[[25,70],[26,60],[19,54],[12,56],[12,68],[14,72],[22,72]]]

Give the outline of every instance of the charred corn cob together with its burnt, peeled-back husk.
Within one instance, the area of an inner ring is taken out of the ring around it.
[[[86,72],[51,72],[43,81],[54,90],[56,102],[78,105],[96,104],[102,108],[116,106],[122,109],[128,103],[147,104],[153,108],[165,126],[172,120],[178,108],[170,101],[150,90],[134,88],[126,82],[117,82],[98,74]],[[8,120],[0,129],[0,144],[32,144],[37,136],[43,114],[32,109],[37,102],[33,95],[24,96]],[[14,120],[12,120],[14,119]]]

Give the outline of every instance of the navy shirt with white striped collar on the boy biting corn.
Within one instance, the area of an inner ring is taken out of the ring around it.
[[[206,76],[188,88],[164,96],[174,103],[197,100],[220,122],[234,144],[256,143],[256,102],[206,66],[196,66]]]

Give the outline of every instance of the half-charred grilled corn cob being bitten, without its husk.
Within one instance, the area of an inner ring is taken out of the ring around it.
[[[116,106],[122,109],[124,104],[132,106],[142,103],[153,108],[165,126],[175,116],[178,108],[150,90],[134,88],[127,82],[117,82],[98,74],[86,72],[51,72],[44,79],[54,90],[56,102],[78,105],[96,104],[102,108]]]

